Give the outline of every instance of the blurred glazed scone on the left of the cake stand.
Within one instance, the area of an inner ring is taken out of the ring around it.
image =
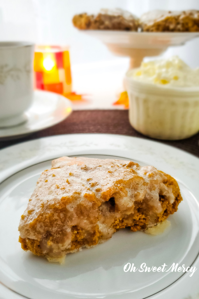
[[[138,30],[138,18],[126,10],[101,9],[97,15],[81,13],[72,19],[73,25],[83,30]]]

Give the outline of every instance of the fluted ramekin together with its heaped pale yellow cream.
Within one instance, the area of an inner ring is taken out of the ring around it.
[[[157,139],[189,138],[199,131],[199,70],[180,58],[143,62],[126,74],[129,121]]]

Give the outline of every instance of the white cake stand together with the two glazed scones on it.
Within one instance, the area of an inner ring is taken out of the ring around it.
[[[72,22],[112,53],[130,57],[130,68],[139,67],[146,56],[158,56],[169,46],[199,36],[198,10],[153,10],[138,18],[125,10],[102,9],[97,15],[75,15]]]

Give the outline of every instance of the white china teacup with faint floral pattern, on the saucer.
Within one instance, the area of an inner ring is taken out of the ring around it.
[[[34,45],[0,42],[0,127],[23,123],[33,101]]]

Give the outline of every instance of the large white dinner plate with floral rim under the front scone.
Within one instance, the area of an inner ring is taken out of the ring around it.
[[[119,158],[153,165],[179,183],[183,202],[163,234],[121,230],[94,248],[68,254],[64,265],[25,252],[18,243],[20,216],[41,172],[64,155]],[[41,138],[0,151],[1,299],[184,299],[199,292],[199,270],[171,271],[173,263],[199,268],[199,159],[174,147],[140,138],[71,134]],[[167,265],[165,272],[125,272]]]

